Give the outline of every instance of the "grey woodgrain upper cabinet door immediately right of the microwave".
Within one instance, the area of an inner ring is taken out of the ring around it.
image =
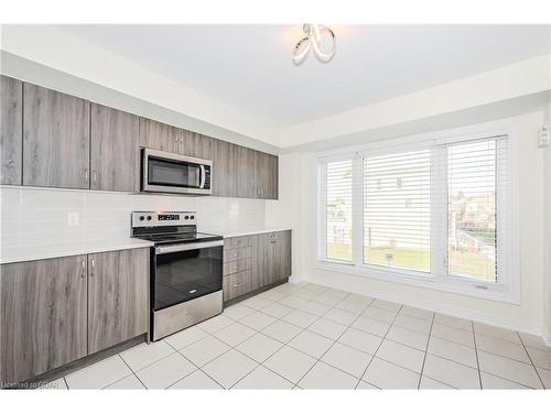
[[[213,195],[236,197],[237,178],[237,145],[213,139]]]

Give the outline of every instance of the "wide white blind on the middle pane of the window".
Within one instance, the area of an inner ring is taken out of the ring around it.
[[[364,263],[430,271],[431,151],[364,159]]]

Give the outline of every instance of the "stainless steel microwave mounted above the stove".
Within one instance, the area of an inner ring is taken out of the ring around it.
[[[142,192],[210,195],[213,161],[142,149]]]

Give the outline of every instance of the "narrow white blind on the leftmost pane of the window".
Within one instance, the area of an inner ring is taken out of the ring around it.
[[[325,164],[325,258],[352,261],[353,160]]]

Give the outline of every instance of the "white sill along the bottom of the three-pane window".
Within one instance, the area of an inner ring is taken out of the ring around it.
[[[386,281],[397,284],[407,284],[417,287],[442,291],[445,293],[461,294],[475,298],[485,298],[509,304],[520,304],[520,297],[510,289],[500,285],[487,285],[485,283],[475,283],[465,280],[443,280],[422,275],[415,271],[408,270],[387,270],[385,268],[374,269],[365,265],[354,265],[352,263],[336,263],[333,261],[318,260],[314,265],[317,270],[341,272],[354,276]],[[484,289],[477,285],[484,285]]]

